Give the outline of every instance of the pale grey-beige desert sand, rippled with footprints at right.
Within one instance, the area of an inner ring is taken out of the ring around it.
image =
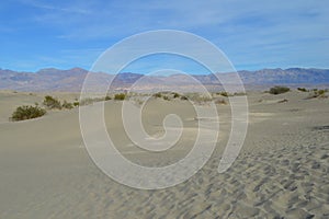
[[[205,166],[177,186],[141,191],[116,183],[95,166],[83,145],[78,108],[8,120],[18,105],[41,102],[43,95],[0,92],[0,218],[329,218],[329,99],[306,100],[307,93],[296,91],[248,93],[247,138],[223,174],[217,166],[230,111],[217,105],[220,135]],[[167,165],[191,149],[196,119],[188,102],[155,100],[145,110],[151,135],[161,134],[168,113],[184,122],[182,139],[162,154],[129,142],[120,107],[120,102],[106,102],[106,125],[133,162]]]

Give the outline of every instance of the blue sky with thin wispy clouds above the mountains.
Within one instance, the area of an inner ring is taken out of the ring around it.
[[[36,71],[90,69],[113,44],[155,30],[191,32],[215,44],[238,70],[329,68],[329,1],[89,1],[0,2],[0,68]],[[154,66],[203,68],[185,59],[140,59],[127,71]]]

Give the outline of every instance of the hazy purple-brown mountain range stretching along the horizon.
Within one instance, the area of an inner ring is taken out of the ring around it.
[[[42,69],[37,72],[16,72],[0,69],[0,89],[18,91],[72,91],[79,92],[82,88],[88,70],[72,68],[59,70],[55,68]],[[114,79],[111,89],[121,90],[137,83],[139,90],[152,90],[159,87],[191,87],[193,84],[185,74],[144,76],[139,73],[113,74],[104,72],[92,72],[95,77],[92,87],[106,85]],[[246,87],[262,87],[269,84],[329,84],[329,69],[262,69],[257,71],[238,71]],[[229,79],[230,73],[216,73],[223,79]],[[208,87],[219,84],[214,74],[193,76],[196,80]]]

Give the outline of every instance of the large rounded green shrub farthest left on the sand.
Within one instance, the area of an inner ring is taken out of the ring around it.
[[[46,114],[46,111],[44,108],[41,108],[39,106],[31,106],[31,105],[24,105],[19,106],[11,116],[12,120],[25,120],[31,118],[37,118]]]

